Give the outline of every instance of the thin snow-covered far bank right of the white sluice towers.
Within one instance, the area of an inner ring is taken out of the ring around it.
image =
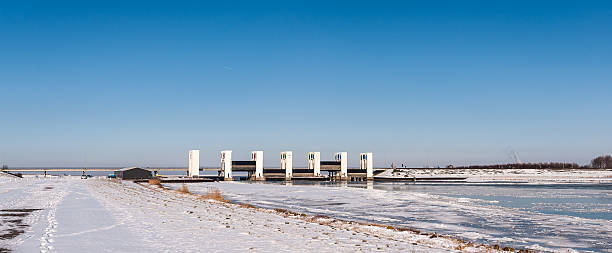
[[[612,170],[549,169],[396,169],[379,177],[467,177],[467,182],[612,183]]]

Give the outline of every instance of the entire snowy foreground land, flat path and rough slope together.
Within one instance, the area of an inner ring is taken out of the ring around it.
[[[208,187],[198,185],[189,187]],[[493,252],[447,237],[78,177],[0,177],[0,222],[0,252]]]

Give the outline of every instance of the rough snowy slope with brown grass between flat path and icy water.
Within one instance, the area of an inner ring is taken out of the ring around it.
[[[190,187],[194,185],[189,184]],[[176,249],[176,245],[166,241],[169,238],[164,236],[168,235],[181,238],[181,251],[445,252],[457,251],[460,245],[456,240],[430,238],[409,231],[323,219],[307,221],[301,216],[279,215],[155,187],[102,182],[94,187],[100,196],[111,200],[107,201],[108,205],[125,212],[126,218],[121,220],[129,224],[128,227],[137,233],[150,234],[146,236],[149,238],[161,235],[148,243],[162,251]],[[147,215],[133,215],[138,212]],[[464,249],[480,250],[483,248]]]

